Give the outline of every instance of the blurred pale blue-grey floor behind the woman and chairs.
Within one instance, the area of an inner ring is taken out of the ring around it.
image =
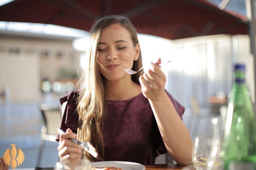
[[[183,122],[191,131],[193,116],[190,116],[189,109],[186,109]],[[195,119],[196,134],[210,135],[210,122],[208,118]],[[40,131],[43,125],[42,116],[37,103],[4,104],[0,103],[0,157],[10,144],[16,144],[25,155],[24,162],[18,168],[34,168],[38,158]],[[46,142],[40,167],[54,167],[59,160],[58,143]],[[164,156],[156,160],[156,163],[165,163]]]

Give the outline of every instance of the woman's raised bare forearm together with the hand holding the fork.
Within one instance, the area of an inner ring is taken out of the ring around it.
[[[158,66],[160,63],[160,59],[156,64],[151,63],[140,77],[142,92],[150,102],[168,152],[178,164],[188,165],[191,162],[191,137],[164,90],[166,76]]]

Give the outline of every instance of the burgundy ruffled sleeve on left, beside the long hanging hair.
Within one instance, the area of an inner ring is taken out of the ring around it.
[[[67,102],[65,111],[63,113],[60,128],[66,131],[68,128],[73,133],[77,133],[79,116],[77,113],[77,99],[81,92],[81,89],[70,92],[67,96],[62,97],[60,100],[61,105]],[[59,142],[59,134],[56,136],[56,141]]]

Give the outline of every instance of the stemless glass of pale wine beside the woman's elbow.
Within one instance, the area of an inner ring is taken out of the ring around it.
[[[192,148],[192,162],[197,170],[207,169],[207,158],[211,149],[211,139],[208,136],[195,137]]]

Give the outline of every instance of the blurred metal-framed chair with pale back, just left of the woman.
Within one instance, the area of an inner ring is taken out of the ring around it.
[[[59,106],[39,104],[39,109],[44,119],[44,125],[41,129],[37,167],[40,167],[45,141],[57,142],[55,137],[62,117]]]

